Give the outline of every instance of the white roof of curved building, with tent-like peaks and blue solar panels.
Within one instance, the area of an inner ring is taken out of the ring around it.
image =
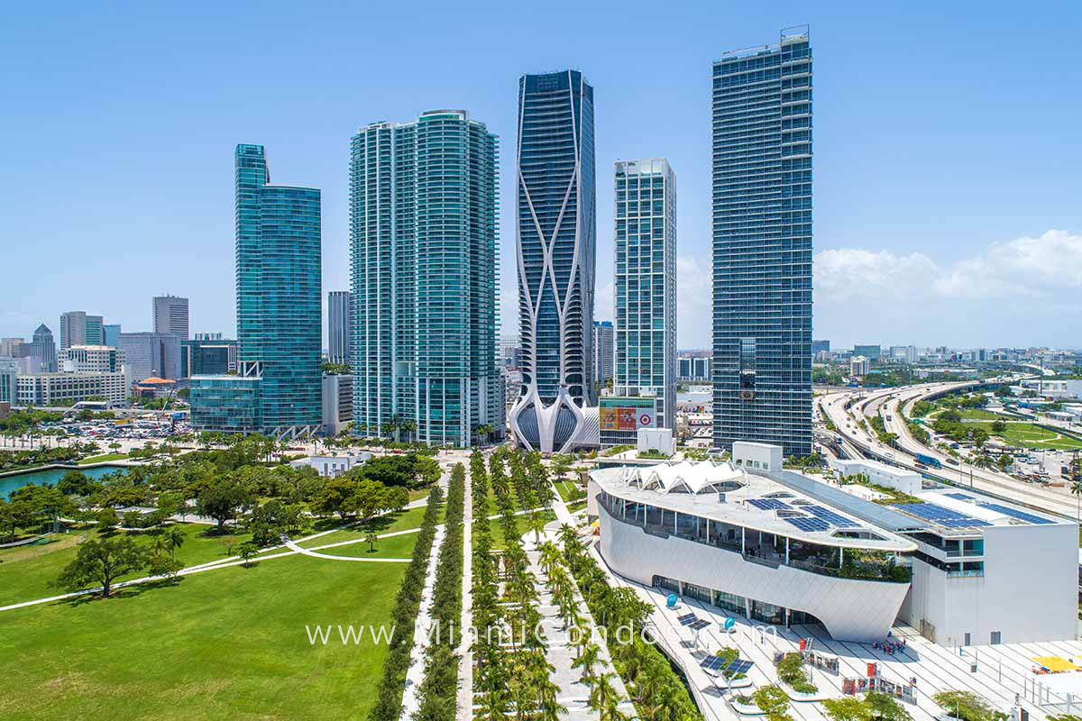
[[[796,473],[789,473],[803,478]],[[916,549],[909,538],[863,521],[847,509],[822,497],[805,493],[794,484],[775,478],[778,473],[748,471],[729,463],[682,462],[675,465],[621,466],[593,471],[590,477],[601,489],[624,500],[635,502],[708,518],[720,523],[762,531],[822,546],[866,548],[907,552]],[[826,484],[810,481],[837,493],[849,506],[865,504]],[[903,525],[914,524],[895,513]]]

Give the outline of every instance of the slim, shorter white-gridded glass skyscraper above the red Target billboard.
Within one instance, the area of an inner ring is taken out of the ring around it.
[[[616,163],[617,396],[657,399],[676,419],[676,174],[669,162]]]

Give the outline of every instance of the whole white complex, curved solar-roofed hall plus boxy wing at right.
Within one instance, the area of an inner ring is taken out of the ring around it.
[[[881,505],[750,463],[590,476],[598,550],[620,575],[765,624],[944,645],[1073,639],[1078,524],[976,492]]]

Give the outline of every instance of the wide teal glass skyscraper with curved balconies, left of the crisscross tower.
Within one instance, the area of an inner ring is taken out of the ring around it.
[[[473,445],[503,436],[496,364],[497,137],[464,110],[352,139],[354,429]],[[405,424],[405,427],[403,427]]]

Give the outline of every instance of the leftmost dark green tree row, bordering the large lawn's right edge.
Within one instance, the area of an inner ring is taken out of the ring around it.
[[[406,670],[410,652],[413,650],[413,625],[421,606],[421,590],[424,575],[432,555],[432,542],[436,535],[436,521],[444,493],[434,486],[428,493],[428,505],[421,521],[421,531],[413,546],[413,556],[406,568],[406,575],[395,597],[395,607],[391,619],[395,629],[392,633],[387,660],[383,665],[383,677],[377,691],[375,705],[368,715],[368,721],[398,721],[403,708],[403,691],[406,689]]]

